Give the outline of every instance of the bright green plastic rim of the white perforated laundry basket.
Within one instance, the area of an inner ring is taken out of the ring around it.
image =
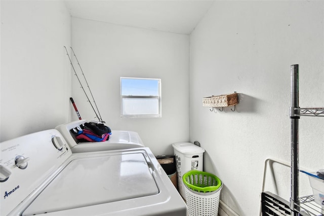
[[[213,179],[216,180],[217,185],[215,186],[206,186],[206,187],[199,187],[196,185],[192,185],[190,183],[187,182],[187,177],[189,175],[203,175],[203,176],[208,176],[208,177],[212,177]],[[207,192],[213,192],[216,191],[217,189],[219,189],[222,186],[222,182],[221,180],[214,174],[209,173],[209,172],[204,172],[204,171],[198,171],[198,170],[190,170],[189,172],[186,172],[185,174],[183,174],[182,176],[182,181],[183,183],[191,190],[194,191],[199,191],[199,192],[203,192],[203,193],[207,193]]]

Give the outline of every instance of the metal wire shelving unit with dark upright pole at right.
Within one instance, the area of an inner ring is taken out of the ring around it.
[[[314,197],[299,197],[299,119],[301,116],[324,117],[324,107],[299,107],[299,65],[291,65],[291,198],[286,201],[270,192],[262,192],[262,215],[323,216],[324,206]]]

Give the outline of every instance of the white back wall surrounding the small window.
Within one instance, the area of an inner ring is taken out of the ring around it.
[[[72,18],[72,47],[112,130],[137,131],[155,155],[173,154],[173,142],[189,140],[188,35]],[[160,78],[162,117],[120,118],[120,77]],[[75,76],[72,95],[81,117],[96,120]]]

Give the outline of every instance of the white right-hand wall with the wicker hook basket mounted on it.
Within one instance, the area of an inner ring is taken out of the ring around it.
[[[216,1],[190,36],[190,140],[206,149],[205,170],[222,179],[221,200],[239,215],[259,213],[265,160],[290,163],[290,65],[300,65],[300,106],[324,104],[323,9],[323,1]],[[235,112],[203,107],[203,97],[234,91]],[[300,120],[300,166],[313,171],[324,167],[322,120]],[[290,169],[276,166],[275,175],[289,200]],[[300,187],[311,193],[308,182]]]

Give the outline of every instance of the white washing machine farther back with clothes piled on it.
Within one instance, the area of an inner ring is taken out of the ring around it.
[[[75,138],[71,129],[80,127],[80,125],[86,122],[89,121],[77,120],[55,127],[63,135],[73,153],[144,147],[143,141],[137,132],[123,130],[112,130],[112,134],[107,141],[80,142]]]

